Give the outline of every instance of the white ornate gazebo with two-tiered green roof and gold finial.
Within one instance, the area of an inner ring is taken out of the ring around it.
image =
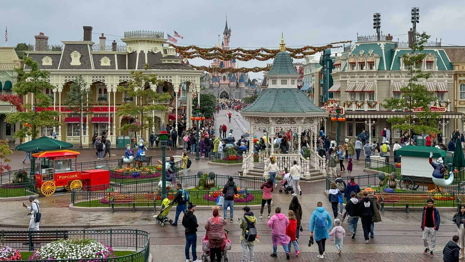
[[[279,168],[290,168],[292,161],[297,160],[302,166],[302,175],[305,177],[309,174],[309,160],[305,159],[301,153],[300,139],[301,134],[308,131],[309,134],[317,134],[320,121],[328,113],[317,107],[307,95],[297,87],[299,73],[292,65],[292,58],[286,52],[284,39],[281,38],[280,52],[276,54],[272,68],[265,77],[268,87],[259,97],[248,107],[240,111],[240,114],[250,123],[250,136],[256,132],[264,132],[271,142],[270,155],[276,157]],[[279,132],[297,134],[298,148],[297,153],[289,150],[289,154],[276,154],[272,141],[275,134]],[[314,141],[316,143],[316,136]],[[266,155],[266,153],[265,153]],[[267,155],[266,155],[267,156]],[[265,171],[266,170],[266,159]],[[253,150],[249,150],[246,159],[243,160],[243,173],[246,175],[253,164]],[[312,167],[313,168],[313,167]]]

